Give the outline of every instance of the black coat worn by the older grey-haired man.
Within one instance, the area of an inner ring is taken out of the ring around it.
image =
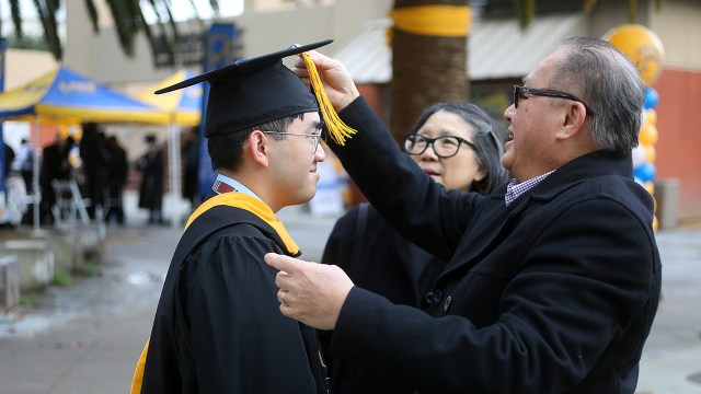
[[[480,196],[433,182],[363,99],[341,117],[359,132],[332,148],[363,193],[450,263],[424,311],[354,287],[334,358],[432,393],[634,392],[660,262],[630,155],[583,155],[505,207],[505,186]]]

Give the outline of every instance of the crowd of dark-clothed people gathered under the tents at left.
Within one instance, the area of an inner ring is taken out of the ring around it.
[[[31,204],[36,185],[38,222],[42,225],[70,219],[66,218],[68,205],[76,199],[82,201],[89,220],[123,225],[126,222],[124,193],[131,171],[137,174],[135,178],[140,175],[139,207],[149,211],[149,223],[162,223],[164,147],[156,143],[153,135],[147,136],[146,142],[147,152],[130,162],[117,136],[106,136],[101,125],[85,123],[81,125],[80,132],[57,132],[54,141],[43,148],[35,148],[27,139],[22,139],[15,153],[5,143],[3,175],[8,183],[7,195],[16,206],[10,207],[16,215],[8,219],[7,225],[34,223]],[[38,163],[37,179],[34,179],[35,159]],[[74,190],[79,196],[73,196]],[[70,209],[73,208],[82,209]]]

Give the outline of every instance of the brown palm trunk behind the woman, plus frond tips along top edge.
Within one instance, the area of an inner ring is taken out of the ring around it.
[[[654,0],[659,10],[663,0]],[[394,11],[418,5],[467,5],[469,0],[394,0]],[[536,15],[537,0],[513,0],[521,28]],[[628,0],[628,20],[635,20],[637,0]],[[582,0],[589,12],[596,0]],[[401,141],[414,119],[439,101],[467,100],[468,37],[439,37],[392,30],[392,81],[390,82],[390,129]]]

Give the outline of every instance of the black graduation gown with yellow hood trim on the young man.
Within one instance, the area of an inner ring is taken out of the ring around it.
[[[281,223],[240,193],[207,200],[193,217],[133,393],[326,393],[315,332],[281,315],[277,271],[263,260],[299,255]]]

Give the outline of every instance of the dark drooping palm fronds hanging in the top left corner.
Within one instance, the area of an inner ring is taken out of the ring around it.
[[[33,0],[33,5],[39,16],[39,22],[44,30],[44,39],[56,60],[61,60],[64,57],[64,47],[58,35],[58,22],[56,20],[56,13],[64,7],[66,0]],[[77,1],[77,0],[72,0]],[[99,33],[97,26],[97,9],[95,8],[95,0],[83,0],[88,14],[90,15],[90,22],[92,23],[93,31]],[[177,40],[179,32],[177,25],[173,19],[171,12],[171,2],[169,0],[104,0],[110,8],[112,19],[115,23],[115,28],[119,37],[119,45],[124,53],[131,57],[134,56],[134,43],[136,36],[143,31],[149,44],[151,46],[151,53],[153,59],[157,58],[157,45],[161,44],[165,46],[165,50],[169,53],[171,62],[174,61],[173,43]],[[20,7],[20,0],[8,0],[10,5],[10,12],[12,15],[12,24],[14,25],[14,34],[18,38],[22,38],[24,32],[22,30],[22,10]],[[199,10],[194,0],[189,0],[194,16],[199,19]],[[219,12],[219,0],[209,0],[209,7]],[[156,25],[149,25],[146,23],[143,16],[143,9],[150,9],[153,14],[157,15]],[[161,33],[161,37],[154,35],[153,28],[158,27]]]

